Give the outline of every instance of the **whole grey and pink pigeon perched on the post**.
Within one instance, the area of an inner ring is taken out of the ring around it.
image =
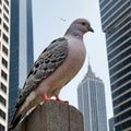
[[[52,40],[44,49],[26,78],[9,131],[12,131],[23,116],[39,103],[49,100],[52,96],[56,100],[61,100],[61,88],[76,75],[85,61],[83,35],[87,32],[94,32],[90,22],[76,19],[63,37]]]

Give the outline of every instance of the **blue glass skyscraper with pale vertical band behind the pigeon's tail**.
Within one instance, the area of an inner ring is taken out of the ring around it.
[[[9,121],[33,62],[32,0],[11,0]]]

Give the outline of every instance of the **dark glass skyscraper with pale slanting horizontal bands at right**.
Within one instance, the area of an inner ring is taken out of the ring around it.
[[[99,0],[116,131],[131,130],[131,0]]]

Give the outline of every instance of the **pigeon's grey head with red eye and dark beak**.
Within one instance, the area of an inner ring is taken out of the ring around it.
[[[84,35],[87,32],[93,32],[93,28],[91,27],[91,23],[85,19],[76,19],[72,22],[70,27],[68,28],[67,34],[81,34]]]

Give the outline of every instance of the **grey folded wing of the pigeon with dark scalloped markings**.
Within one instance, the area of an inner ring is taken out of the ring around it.
[[[21,92],[20,99],[16,104],[19,108],[34,91],[38,84],[47,79],[58,69],[68,56],[68,40],[64,37],[53,40],[38,57],[33,68],[31,69],[24,87]]]

